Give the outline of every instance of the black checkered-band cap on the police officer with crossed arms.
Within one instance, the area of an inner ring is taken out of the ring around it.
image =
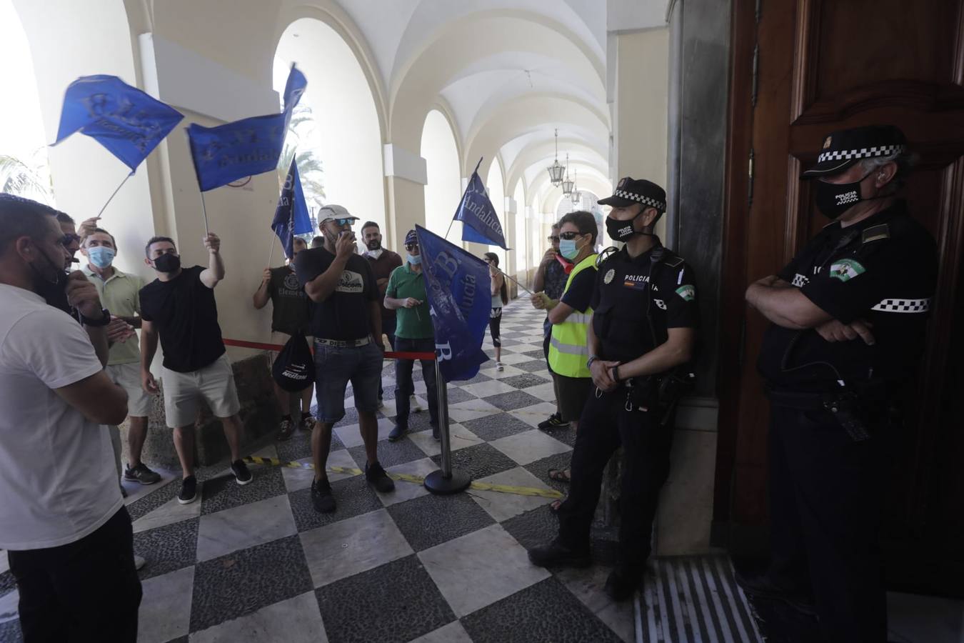
[[[817,165],[800,178],[841,174],[864,158],[890,156],[907,149],[907,138],[894,125],[867,125],[834,132],[823,139]]]

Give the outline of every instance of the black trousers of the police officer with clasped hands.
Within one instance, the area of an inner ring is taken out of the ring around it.
[[[652,550],[659,489],[669,475],[673,422],[660,425],[656,410],[627,410],[627,388],[598,394],[593,387],[579,417],[569,497],[559,507],[559,542],[585,551],[596,512],[603,469],[623,447],[619,511],[619,564],[642,566]],[[630,405],[631,407],[631,405]]]

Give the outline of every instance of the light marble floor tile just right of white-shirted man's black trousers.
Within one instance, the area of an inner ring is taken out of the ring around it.
[[[144,597],[138,612],[138,643],[165,643],[188,633],[193,587],[194,567],[141,583]]]

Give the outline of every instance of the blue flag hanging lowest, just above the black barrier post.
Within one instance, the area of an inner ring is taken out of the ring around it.
[[[470,380],[479,364],[489,360],[482,351],[492,312],[489,266],[421,226],[415,226],[415,233],[439,369],[446,382]]]

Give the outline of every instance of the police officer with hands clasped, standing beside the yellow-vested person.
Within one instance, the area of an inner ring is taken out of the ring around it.
[[[639,585],[651,550],[656,499],[669,473],[678,399],[671,389],[675,371],[693,354],[696,288],[689,266],[653,233],[666,209],[662,188],[626,177],[600,203],[612,205],[609,236],[626,245],[607,251],[598,266],[587,333],[595,386],[579,419],[559,533],[549,545],[530,550],[529,560],[540,567],[590,564],[589,528],[603,469],[622,445],[619,561],[605,585],[610,597],[622,601]]]

